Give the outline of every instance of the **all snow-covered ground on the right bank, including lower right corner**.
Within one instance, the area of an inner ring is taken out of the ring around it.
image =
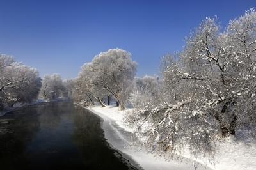
[[[132,143],[132,129],[124,123],[125,112],[118,111],[118,107],[95,106],[89,109],[93,113],[100,116],[103,122],[105,137],[108,142],[117,150],[129,155],[143,169],[220,169],[220,170],[253,170],[256,169],[256,143],[235,143],[232,139],[227,139],[225,143],[220,144],[220,150],[216,153],[214,164],[210,164],[207,160],[198,160],[205,164],[194,164],[193,161],[185,160],[166,161],[162,157],[157,157],[147,151],[138,150]],[[129,139],[130,138],[130,139]],[[184,157],[189,157],[188,155]]]

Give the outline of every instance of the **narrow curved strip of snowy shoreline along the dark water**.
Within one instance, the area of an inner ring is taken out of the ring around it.
[[[114,120],[110,116],[102,114],[102,111],[95,111],[94,108],[95,107],[86,109],[102,119],[102,129],[104,130],[104,135],[108,143],[111,145],[111,147],[115,148],[115,150],[120,151],[125,158],[133,163],[134,166],[139,166],[139,168],[141,167],[142,169],[148,170],[188,170],[195,168],[205,170],[211,169],[209,167],[202,166],[200,163],[195,165],[194,162],[191,162],[189,160],[184,162],[170,160],[168,162],[163,157],[156,157],[156,155],[148,153],[143,149],[138,150],[134,146],[130,145],[132,143],[132,135],[134,134],[120,127],[120,125],[116,123],[116,120]]]

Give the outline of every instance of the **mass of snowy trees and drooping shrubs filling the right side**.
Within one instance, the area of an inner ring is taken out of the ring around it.
[[[195,157],[212,156],[218,139],[255,138],[255,10],[225,31],[216,18],[203,20],[182,52],[163,57],[161,76],[138,79],[131,98],[137,110],[127,116],[152,151],[189,147]]]

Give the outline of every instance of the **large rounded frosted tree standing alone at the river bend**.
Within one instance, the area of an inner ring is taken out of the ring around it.
[[[131,59],[131,53],[122,49],[109,49],[95,56],[91,63],[86,63],[79,79],[86,77],[86,93],[92,93],[91,89],[98,94],[100,91],[108,91],[116,98],[120,109],[124,109],[131,92],[129,86],[136,74],[136,66],[136,62]]]

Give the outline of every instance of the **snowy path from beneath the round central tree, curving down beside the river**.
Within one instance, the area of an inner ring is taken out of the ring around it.
[[[113,146],[113,148],[120,150],[122,153],[129,155],[133,160],[138,162],[140,167],[148,170],[187,170],[195,169],[192,161],[186,160],[184,162],[178,162],[171,160],[167,162],[162,157],[156,157],[151,153],[147,153],[145,150],[138,150],[134,146],[129,146],[132,143],[132,133],[129,128],[125,127],[122,123],[122,118],[124,112],[117,112],[116,107],[93,107],[89,109],[93,113],[97,114],[104,121],[102,123],[102,128],[108,143]],[[196,169],[210,169],[196,164]]]

